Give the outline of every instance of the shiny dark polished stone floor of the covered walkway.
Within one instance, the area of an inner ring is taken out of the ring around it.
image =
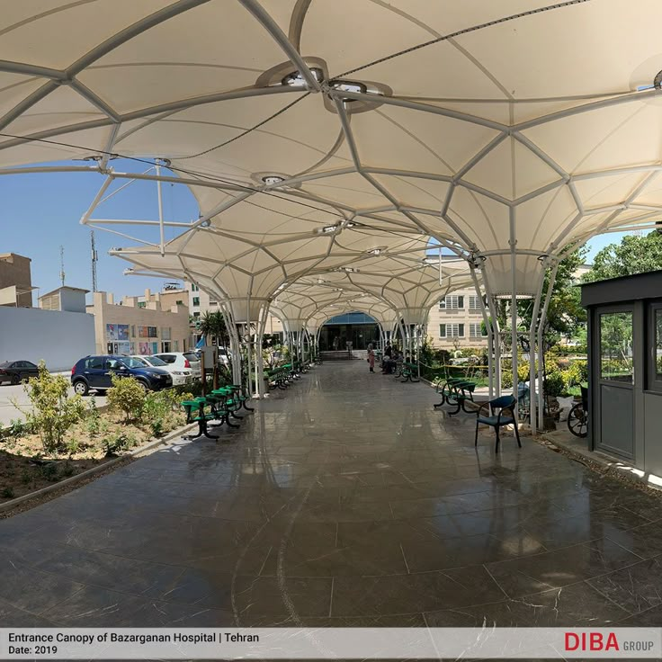
[[[219,443],[0,522],[0,625],[662,622],[660,500],[327,363]]]

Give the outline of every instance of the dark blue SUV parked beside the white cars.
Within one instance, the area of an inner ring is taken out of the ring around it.
[[[71,369],[71,385],[76,393],[86,396],[91,389],[110,389],[113,374],[133,377],[145,390],[167,389],[173,385],[173,378],[162,368],[146,366],[131,356],[112,354],[85,356],[78,361]]]

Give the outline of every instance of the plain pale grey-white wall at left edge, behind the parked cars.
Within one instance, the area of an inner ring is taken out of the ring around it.
[[[0,362],[43,359],[50,371],[67,371],[87,354],[94,354],[94,316],[0,307]]]

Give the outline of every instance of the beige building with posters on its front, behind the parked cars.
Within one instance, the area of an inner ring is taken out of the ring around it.
[[[94,315],[96,352],[154,354],[190,349],[185,293],[146,290],[144,296],[123,297],[115,303],[112,294],[94,292],[94,303],[86,310]]]

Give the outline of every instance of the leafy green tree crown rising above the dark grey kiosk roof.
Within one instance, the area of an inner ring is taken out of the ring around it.
[[[662,235],[657,230],[644,237],[626,235],[620,244],[610,244],[595,255],[584,282],[631,276],[662,269]]]

